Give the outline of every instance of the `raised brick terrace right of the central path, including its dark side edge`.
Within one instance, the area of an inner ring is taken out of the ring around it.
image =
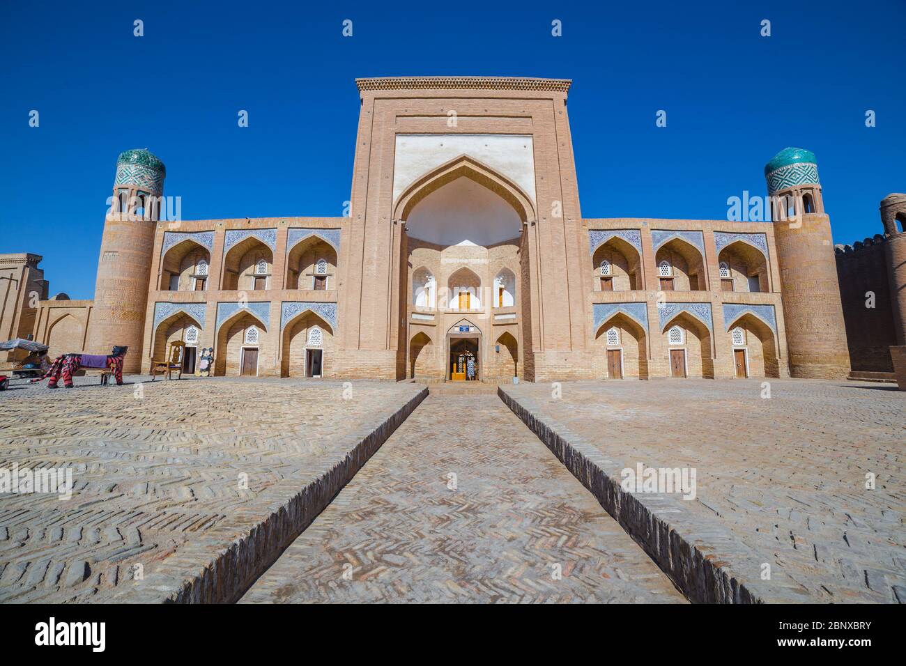
[[[805,380],[770,390],[676,380],[564,383],[560,399],[550,385],[501,392],[690,599],[906,602],[906,393]],[[698,497],[622,492],[621,470],[639,462],[696,468]]]

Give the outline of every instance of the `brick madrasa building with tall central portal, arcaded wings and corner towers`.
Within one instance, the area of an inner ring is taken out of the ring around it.
[[[835,250],[809,150],[767,163],[780,221],[583,217],[570,84],[357,80],[346,217],[161,219],[163,162],[126,150],[93,301],[48,298],[40,256],[6,256],[19,257],[16,284],[43,295],[27,317],[10,309],[5,334],[52,355],[128,345],[126,372],[182,341],[187,372],[213,348],[227,376],[843,379],[864,362],[892,377],[888,347],[906,343],[906,197],[882,211],[882,251],[843,269],[863,255]],[[875,313],[857,290],[842,300],[838,270],[887,285],[880,333],[855,355],[847,323]]]

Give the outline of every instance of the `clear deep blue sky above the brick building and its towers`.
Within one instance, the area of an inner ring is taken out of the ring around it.
[[[0,2],[0,253],[42,255],[52,294],[92,297],[121,150],[164,160],[184,219],[342,215],[361,76],[573,79],[584,217],[724,218],[786,146],[817,155],[834,242],[906,190],[903,0]]]

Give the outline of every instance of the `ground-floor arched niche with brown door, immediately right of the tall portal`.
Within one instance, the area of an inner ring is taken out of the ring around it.
[[[641,324],[615,313],[594,336],[595,375],[606,379],[648,379],[648,342]]]

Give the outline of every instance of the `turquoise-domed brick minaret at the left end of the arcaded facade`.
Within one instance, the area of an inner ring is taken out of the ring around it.
[[[147,149],[126,150],[117,159],[87,351],[110,353],[115,344],[128,345],[123,372],[140,372],[154,229],[166,175],[164,163]]]

